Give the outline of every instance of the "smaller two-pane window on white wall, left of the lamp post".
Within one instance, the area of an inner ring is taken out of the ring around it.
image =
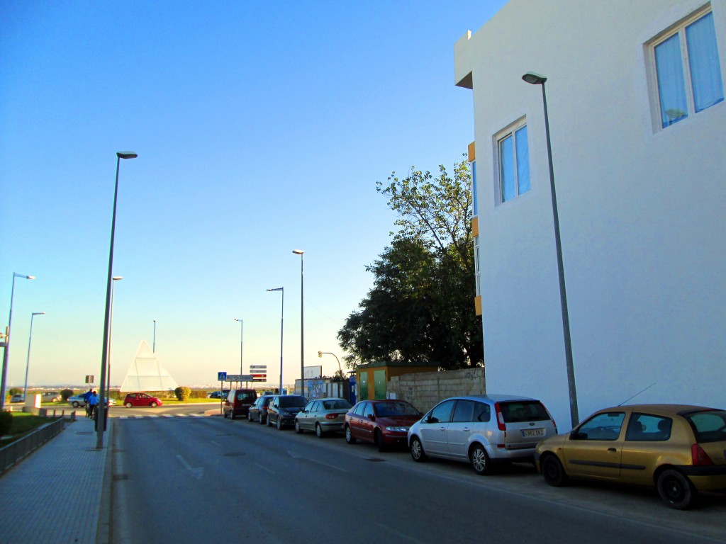
[[[515,126],[497,139],[499,147],[499,202],[529,191],[527,125]]]

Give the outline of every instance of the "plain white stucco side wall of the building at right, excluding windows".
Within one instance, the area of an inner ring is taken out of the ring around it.
[[[511,0],[454,48],[473,76],[487,392],[570,428],[542,90],[579,416],[632,402],[726,407],[726,103],[653,121],[644,44],[702,0]],[[726,75],[726,0],[711,2]],[[726,85],[725,85],[726,87]],[[495,205],[494,135],[526,117],[531,191]]]

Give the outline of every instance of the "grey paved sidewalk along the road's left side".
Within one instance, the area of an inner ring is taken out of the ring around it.
[[[107,428],[97,450],[94,422],[68,421],[0,477],[0,543],[108,542],[113,419]]]

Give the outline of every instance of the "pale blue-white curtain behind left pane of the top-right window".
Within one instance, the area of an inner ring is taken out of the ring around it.
[[[656,46],[656,70],[658,95],[661,97],[661,121],[665,128],[688,117],[678,34]]]

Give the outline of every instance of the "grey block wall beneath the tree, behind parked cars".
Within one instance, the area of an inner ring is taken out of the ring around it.
[[[484,395],[484,368],[446,372],[417,372],[388,380],[388,398],[407,400],[422,412],[447,397]]]

